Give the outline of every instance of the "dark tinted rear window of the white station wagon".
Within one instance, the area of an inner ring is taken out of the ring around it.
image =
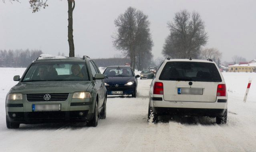
[[[222,82],[215,64],[204,62],[167,62],[159,80]]]

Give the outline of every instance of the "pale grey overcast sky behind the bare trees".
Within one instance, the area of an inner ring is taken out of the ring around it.
[[[4,4],[0,0],[0,50],[40,49],[44,53],[69,55],[67,0],[48,1],[48,7],[32,13],[28,0]],[[151,22],[154,58],[169,35],[167,22],[175,12],[196,11],[205,22],[205,47],[222,52],[222,61],[242,56],[256,59],[255,0],[76,0],[73,12],[75,55],[91,58],[118,57],[112,44],[114,20],[131,6],[147,14]]]

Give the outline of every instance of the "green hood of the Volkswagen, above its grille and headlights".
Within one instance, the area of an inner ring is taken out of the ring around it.
[[[10,93],[73,93],[79,91],[86,91],[90,84],[90,81],[19,82],[11,88]]]

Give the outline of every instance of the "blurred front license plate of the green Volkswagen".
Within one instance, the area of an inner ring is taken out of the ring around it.
[[[32,104],[32,111],[59,111],[60,104]]]

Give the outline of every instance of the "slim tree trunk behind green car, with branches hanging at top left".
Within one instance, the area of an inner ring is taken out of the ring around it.
[[[19,0],[10,0],[17,1]],[[32,12],[38,12],[40,8],[46,8],[48,6],[48,0],[28,0],[30,7],[32,8]],[[68,1],[68,42],[69,42],[69,57],[75,57],[75,46],[73,39],[73,10],[75,9],[75,0],[67,0]],[[5,0],[3,0],[5,2]]]

